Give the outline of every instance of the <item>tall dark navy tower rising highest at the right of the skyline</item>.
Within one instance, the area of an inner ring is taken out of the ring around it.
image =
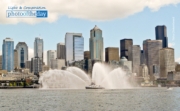
[[[156,26],[156,40],[162,40],[162,47],[168,47],[168,38],[167,38],[167,30],[166,26]]]

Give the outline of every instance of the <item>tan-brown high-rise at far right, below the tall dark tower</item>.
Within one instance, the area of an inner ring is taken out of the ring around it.
[[[175,71],[174,49],[163,48],[159,54],[160,77],[167,77],[168,72]]]

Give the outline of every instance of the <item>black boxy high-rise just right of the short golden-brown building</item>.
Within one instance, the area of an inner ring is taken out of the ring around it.
[[[120,52],[121,57],[126,57],[128,59],[128,48],[133,45],[132,39],[122,39],[120,40]]]

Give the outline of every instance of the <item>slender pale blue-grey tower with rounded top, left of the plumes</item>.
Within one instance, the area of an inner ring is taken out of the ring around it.
[[[43,39],[36,37],[34,41],[34,57],[42,58],[43,62],[44,43]]]

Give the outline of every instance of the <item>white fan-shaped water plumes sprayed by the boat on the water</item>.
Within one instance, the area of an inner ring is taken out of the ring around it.
[[[121,68],[111,69],[109,65],[95,63],[92,71],[92,80],[77,67],[68,67],[66,70],[49,70],[44,72],[39,82],[42,88],[85,89],[91,84],[100,85],[105,89],[130,88],[128,76]]]

